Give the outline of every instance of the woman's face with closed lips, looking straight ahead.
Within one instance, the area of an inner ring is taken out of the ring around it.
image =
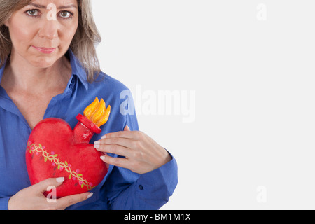
[[[12,55],[48,68],[68,50],[78,28],[77,0],[34,0],[6,22]]]

